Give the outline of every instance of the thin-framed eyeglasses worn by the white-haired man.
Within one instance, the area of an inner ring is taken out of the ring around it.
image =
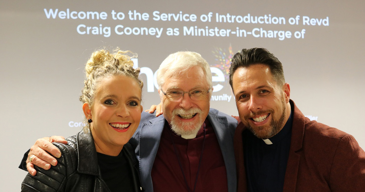
[[[162,91],[162,89],[161,89],[161,91]],[[185,93],[188,93],[189,97],[193,101],[200,101],[200,100],[203,100],[204,96],[209,93],[209,90],[208,91],[203,91],[200,89],[196,89],[196,90],[192,90],[192,91],[171,90],[171,91],[166,91],[166,93],[164,91],[162,91],[162,93],[164,93],[164,95],[166,95],[166,97],[171,101],[180,101],[180,99],[184,97]]]

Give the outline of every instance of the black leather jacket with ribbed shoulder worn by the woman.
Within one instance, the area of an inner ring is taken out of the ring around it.
[[[22,183],[22,191],[83,191],[110,192],[107,184],[101,179],[94,140],[90,131],[81,131],[76,136],[67,138],[68,144],[53,143],[61,150],[62,156],[57,158],[57,165],[44,170],[37,166],[36,176],[29,173]],[[137,158],[132,146],[123,146],[123,155],[131,167],[135,192],[142,191],[139,180]],[[26,168],[27,153],[19,168]],[[144,191],[144,190],[143,190]]]

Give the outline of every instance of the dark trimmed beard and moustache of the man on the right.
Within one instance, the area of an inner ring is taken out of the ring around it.
[[[284,127],[284,120],[285,120],[285,110],[286,110],[286,105],[285,105],[285,98],[282,97],[283,99],[281,100],[282,105],[283,105],[283,112],[281,113],[281,117],[279,118],[279,120],[274,120],[274,118],[272,118],[272,121],[270,123],[270,127],[266,128],[268,129],[265,134],[260,134],[258,130],[264,129],[264,126],[260,126],[260,127],[256,127],[253,128],[251,127],[251,125],[248,123],[249,122],[249,116],[253,117],[253,116],[257,116],[258,114],[263,114],[265,112],[258,112],[258,113],[251,113],[249,114],[247,117],[245,117],[247,125],[246,127],[257,137],[260,139],[267,139],[270,138],[274,135],[276,135],[283,127]],[[270,110],[270,115],[273,115],[273,110]]]

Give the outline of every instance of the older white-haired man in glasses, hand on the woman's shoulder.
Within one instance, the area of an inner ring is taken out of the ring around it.
[[[235,192],[233,135],[237,120],[209,108],[213,88],[207,61],[195,52],[170,54],[158,69],[157,83],[163,116],[143,112],[130,140],[142,186],[155,192]],[[41,146],[50,146],[43,148],[55,153],[48,142],[38,140],[28,156],[44,154]],[[27,163],[28,171],[34,173],[32,163]],[[45,161],[34,163],[48,168]]]

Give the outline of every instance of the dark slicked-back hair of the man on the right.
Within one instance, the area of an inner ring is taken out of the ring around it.
[[[283,65],[281,62],[265,48],[242,49],[232,57],[231,67],[229,68],[229,83],[233,84],[233,74],[240,67],[250,67],[255,64],[265,64],[270,68],[278,85],[285,83]],[[233,87],[232,87],[233,89]]]

